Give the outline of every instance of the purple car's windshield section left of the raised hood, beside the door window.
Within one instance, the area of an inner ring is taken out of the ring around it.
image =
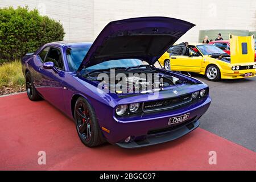
[[[70,71],[77,71],[89,48],[90,45],[67,49],[67,60]]]

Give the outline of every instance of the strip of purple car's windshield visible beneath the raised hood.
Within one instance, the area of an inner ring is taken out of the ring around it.
[[[139,59],[119,59],[104,61],[102,63],[93,65],[92,67],[86,68],[88,72],[96,71],[97,69],[110,69],[110,68],[129,68],[143,65]]]

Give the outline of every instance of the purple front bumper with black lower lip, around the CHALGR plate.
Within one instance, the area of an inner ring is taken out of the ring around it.
[[[158,111],[153,114],[146,113],[137,120],[130,117],[130,121],[116,121],[116,118],[114,119],[113,116],[109,115],[108,118],[100,122],[100,126],[110,131],[109,133],[102,131],[102,133],[106,140],[112,144],[124,148],[150,146],[177,139],[196,129],[199,126],[199,118],[208,110],[210,102],[211,98],[208,96],[200,102],[179,109]],[[168,125],[170,118],[187,113],[189,113],[189,118],[186,121]],[[133,138],[133,142],[125,143],[124,140],[127,137]]]

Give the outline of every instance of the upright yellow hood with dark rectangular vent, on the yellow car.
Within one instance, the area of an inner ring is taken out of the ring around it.
[[[229,35],[231,64],[254,63],[255,47],[254,35],[235,36]]]

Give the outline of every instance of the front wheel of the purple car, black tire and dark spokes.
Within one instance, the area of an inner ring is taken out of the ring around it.
[[[105,143],[93,107],[83,97],[76,101],[74,109],[76,131],[82,143],[87,147]]]

